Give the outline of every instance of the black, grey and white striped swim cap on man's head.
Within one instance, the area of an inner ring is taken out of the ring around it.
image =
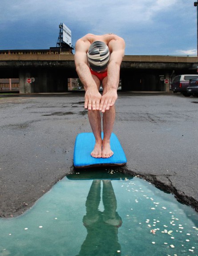
[[[105,70],[109,62],[108,46],[101,41],[93,42],[89,47],[87,58],[93,71],[101,72]]]

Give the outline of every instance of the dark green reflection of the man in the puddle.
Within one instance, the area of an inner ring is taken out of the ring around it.
[[[117,202],[110,180],[102,180],[102,200],[105,210],[98,210],[101,200],[101,180],[93,180],[86,200],[86,215],[83,224],[87,236],[81,246],[79,256],[121,255],[118,243],[118,228],[122,224],[116,208]]]

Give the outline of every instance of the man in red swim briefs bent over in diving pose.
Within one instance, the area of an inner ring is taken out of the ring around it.
[[[113,155],[110,136],[115,120],[115,101],[120,79],[120,65],[124,57],[125,41],[114,34],[87,34],[76,43],[75,65],[85,88],[85,109],[95,136],[91,155],[109,158]],[[102,84],[103,93],[99,93]],[[101,115],[103,113],[103,140],[101,138]]]

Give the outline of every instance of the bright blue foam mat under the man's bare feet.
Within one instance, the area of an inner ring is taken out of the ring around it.
[[[102,133],[103,136],[103,133]],[[94,158],[90,154],[95,145],[95,138],[93,133],[81,133],[77,135],[74,154],[73,165],[76,168],[93,167],[93,166],[111,166],[111,165],[125,165],[127,162],[125,152],[117,138],[112,133],[110,138],[111,149],[113,150],[113,156],[110,158]]]

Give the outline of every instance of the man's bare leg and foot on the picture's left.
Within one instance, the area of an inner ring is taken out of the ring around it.
[[[101,82],[99,79],[92,75],[95,80],[97,87],[99,89]],[[93,151],[91,152],[91,156],[95,158],[101,158],[102,156],[102,138],[101,138],[101,114],[99,110],[88,110],[89,123],[91,125],[96,144],[94,146]]]

